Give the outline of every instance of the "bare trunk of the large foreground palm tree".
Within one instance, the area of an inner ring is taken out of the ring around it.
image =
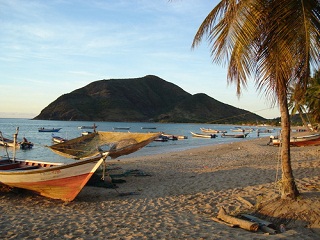
[[[286,93],[279,96],[279,105],[281,112],[281,167],[282,167],[282,189],[281,198],[296,199],[299,191],[296,187],[290,158],[290,114],[288,110]]]

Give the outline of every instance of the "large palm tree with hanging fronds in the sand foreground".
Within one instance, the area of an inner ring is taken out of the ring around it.
[[[297,83],[305,91],[311,66],[319,65],[319,0],[221,0],[199,27],[193,48],[204,35],[213,61],[227,63],[227,79],[236,84],[238,96],[253,77],[271,105],[279,105],[281,196],[295,199],[299,191],[291,168],[288,86]]]

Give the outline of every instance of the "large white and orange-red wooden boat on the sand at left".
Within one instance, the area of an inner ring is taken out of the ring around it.
[[[72,201],[106,158],[95,156],[73,163],[32,160],[0,161],[0,183],[39,195]]]

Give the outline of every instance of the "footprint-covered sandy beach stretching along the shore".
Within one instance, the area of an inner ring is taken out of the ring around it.
[[[320,239],[320,146],[291,148],[301,196],[284,202],[279,148],[268,140],[110,160],[116,188],[86,186],[69,203],[2,188],[0,239]],[[284,231],[218,223],[221,207],[260,209]]]

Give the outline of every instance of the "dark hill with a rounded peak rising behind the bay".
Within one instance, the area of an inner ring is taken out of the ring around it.
[[[60,96],[35,119],[214,123],[264,120],[205,94],[191,95],[152,75],[92,82]]]

